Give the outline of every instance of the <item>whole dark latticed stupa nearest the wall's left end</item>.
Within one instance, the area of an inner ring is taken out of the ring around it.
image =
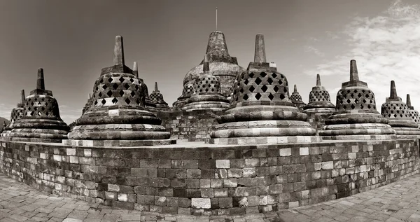
[[[57,99],[45,90],[43,69],[38,69],[36,89],[25,98],[22,118],[15,120],[11,141],[61,142],[67,139],[70,127],[59,116]]]

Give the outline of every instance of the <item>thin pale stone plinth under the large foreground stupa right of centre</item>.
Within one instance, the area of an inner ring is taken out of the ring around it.
[[[218,145],[256,145],[256,144],[295,144],[321,142],[319,136],[291,136],[291,137],[230,137],[206,139],[206,144]]]

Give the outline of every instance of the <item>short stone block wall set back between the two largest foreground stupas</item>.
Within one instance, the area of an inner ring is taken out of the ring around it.
[[[171,139],[183,141],[204,141],[210,138],[212,127],[217,124],[216,117],[223,112],[214,111],[158,111],[162,125],[171,132]]]

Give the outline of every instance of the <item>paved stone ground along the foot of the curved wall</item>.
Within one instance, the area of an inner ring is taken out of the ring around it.
[[[111,209],[34,190],[0,173],[0,222],[65,221],[420,221],[420,174],[339,200],[291,210],[232,216],[171,216]]]

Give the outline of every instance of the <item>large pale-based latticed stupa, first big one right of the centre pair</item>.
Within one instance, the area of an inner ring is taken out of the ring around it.
[[[395,130],[376,109],[374,93],[359,81],[356,61],[350,61],[350,81],[337,92],[335,113],[319,134],[323,139],[395,139]]]

